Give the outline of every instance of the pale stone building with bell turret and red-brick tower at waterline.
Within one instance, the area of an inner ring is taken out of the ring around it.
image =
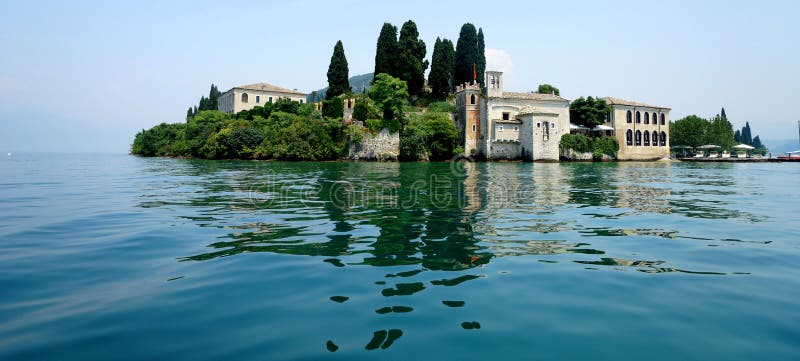
[[[569,133],[569,101],[553,94],[503,91],[503,73],[486,72],[486,95],[475,82],[456,89],[456,127],[464,152],[486,159],[558,161]]]

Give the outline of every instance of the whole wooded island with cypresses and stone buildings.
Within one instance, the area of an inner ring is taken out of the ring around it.
[[[550,84],[530,92],[505,91],[503,73],[486,70],[483,29],[469,23],[455,45],[437,38],[430,63],[425,56],[413,21],[403,24],[399,37],[397,27],[385,23],[372,74],[350,78],[338,41],[327,88],[306,94],[255,83],[222,93],[212,84],[209,96],[189,108],[185,122],[142,130],[131,153],[287,161],[546,162],[730,154],[745,159],[767,153],[759,137],[751,136],[749,123],[734,133],[724,109],[711,120],[691,115],[671,121],[668,107],[615,97],[569,101]],[[356,80],[360,84],[353,87]],[[719,153],[704,153],[712,145]],[[741,149],[746,151],[736,152]]]

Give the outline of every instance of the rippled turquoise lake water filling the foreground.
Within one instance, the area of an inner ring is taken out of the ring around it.
[[[798,180],[3,157],[0,359],[796,360]]]

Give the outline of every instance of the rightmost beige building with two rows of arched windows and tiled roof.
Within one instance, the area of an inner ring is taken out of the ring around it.
[[[670,108],[628,100],[603,98],[611,113],[606,126],[614,128],[619,143],[619,160],[669,158]]]

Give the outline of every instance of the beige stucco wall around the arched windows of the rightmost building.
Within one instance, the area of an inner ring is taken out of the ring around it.
[[[669,109],[649,108],[649,107],[634,107],[624,105],[612,105],[611,117],[606,122],[606,125],[614,128],[615,137],[619,143],[619,151],[617,152],[617,159],[619,160],[653,160],[669,157]],[[631,123],[627,122],[627,112],[631,111]],[[636,112],[641,114],[641,123],[636,123]],[[644,112],[650,115],[649,124],[645,124]],[[658,121],[653,124],[652,116],[656,114]],[[664,124],[661,124],[661,115],[664,115]],[[633,133],[632,145],[627,144],[626,132],[628,129]],[[664,146],[653,146],[652,138],[650,145],[644,145],[644,135],[642,136],[642,144],[636,145],[636,131],[653,131],[666,133],[667,141]]]

